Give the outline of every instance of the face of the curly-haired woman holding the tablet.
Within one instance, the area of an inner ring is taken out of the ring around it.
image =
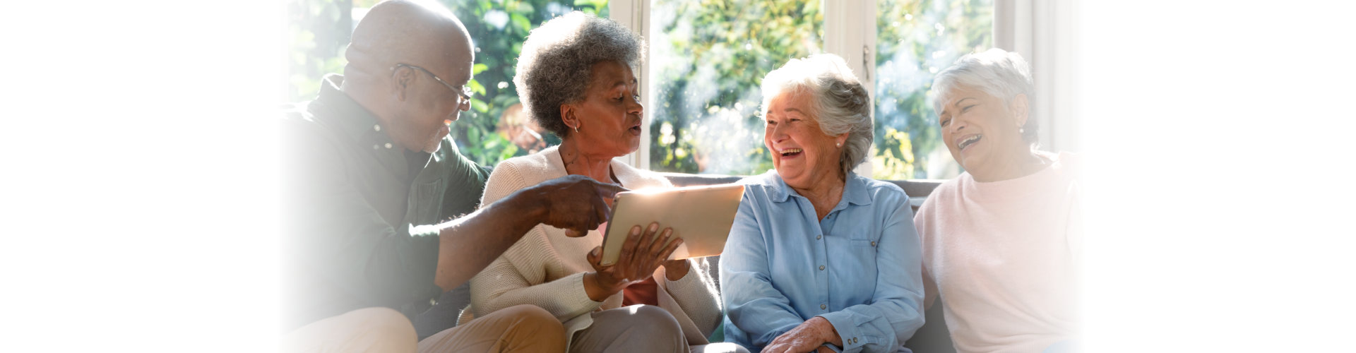
[[[617,157],[640,148],[640,81],[631,68],[617,61],[602,61],[590,68],[591,81],[583,102],[563,107],[567,138],[578,138],[580,151],[590,155]]]

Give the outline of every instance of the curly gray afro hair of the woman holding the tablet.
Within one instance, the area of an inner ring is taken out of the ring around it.
[[[616,61],[635,71],[644,60],[645,41],[610,19],[574,11],[527,34],[513,77],[527,117],[565,137],[570,128],[560,106],[584,99],[594,64]]]

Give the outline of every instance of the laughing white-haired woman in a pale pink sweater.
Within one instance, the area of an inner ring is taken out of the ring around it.
[[[928,305],[941,296],[959,352],[1047,352],[1075,337],[1075,157],[1036,149],[1026,61],[1001,49],[937,73],[941,137],[965,168],[914,223]]]

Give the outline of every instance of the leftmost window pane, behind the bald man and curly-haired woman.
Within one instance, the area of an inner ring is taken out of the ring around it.
[[[289,1],[292,100],[315,98],[320,77],[340,73],[347,62],[343,49],[353,26],[376,0],[292,0]],[[513,86],[518,50],[527,33],[542,22],[579,10],[607,16],[607,0],[502,0],[442,4],[461,19],[476,43],[475,76],[468,84],[476,95],[471,111],[452,124],[452,136],[461,153],[494,166],[546,145],[560,144],[555,134],[527,124]]]

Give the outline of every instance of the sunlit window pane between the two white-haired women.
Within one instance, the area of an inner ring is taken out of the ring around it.
[[[877,179],[946,179],[960,166],[941,143],[932,80],[967,53],[993,48],[993,0],[877,0]]]

